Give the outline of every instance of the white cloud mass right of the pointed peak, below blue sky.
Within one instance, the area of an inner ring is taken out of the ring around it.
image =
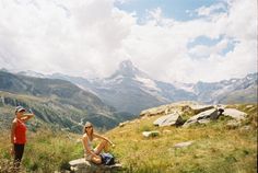
[[[212,15],[207,12],[207,18],[186,22],[159,18],[162,24],[157,25],[153,19],[145,25],[133,26],[125,48],[139,67],[166,81],[219,81],[244,77],[257,71],[257,10],[254,3],[251,0],[230,1],[226,11]],[[208,7],[207,11],[219,8],[221,5]],[[206,9],[202,7],[201,10]],[[213,46],[187,47],[200,36],[218,39],[221,35],[223,38]],[[237,44],[222,55],[232,39]],[[197,55],[201,58],[196,58]]]

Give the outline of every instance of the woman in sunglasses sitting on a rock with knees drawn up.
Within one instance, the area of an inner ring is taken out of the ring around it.
[[[93,149],[92,146],[92,141],[94,138],[102,139],[102,142],[95,149]],[[94,132],[93,126],[90,122],[86,122],[84,126],[82,142],[84,147],[85,159],[96,164],[102,163],[102,158],[99,153],[103,150],[106,152],[109,145],[112,145],[112,147],[115,147],[115,145],[110,140]]]

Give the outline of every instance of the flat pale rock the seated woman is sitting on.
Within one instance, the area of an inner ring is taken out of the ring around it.
[[[86,161],[84,158],[72,160],[69,162],[70,170],[74,173],[85,173],[85,172],[117,172],[122,170],[121,164],[116,163],[113,165],[103,165],[103,164],[94,164],[92,162]]]

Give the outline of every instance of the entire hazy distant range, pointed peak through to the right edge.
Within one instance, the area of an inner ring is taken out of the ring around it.
[[[89,80],[60,73],[46,76],[71,81],[118,111],[132,114],[177,101],[198,101],[207,104],[254,103],[257,102],[257,77],[258,73],[253,73],[243,79],[220,82],[167,83],[152,79],[130,60],[122,61],[116,72],[105,79]]]

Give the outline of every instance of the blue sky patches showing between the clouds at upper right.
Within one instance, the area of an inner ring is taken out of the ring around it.
[[[210,7],[212,4],[222,3],[226,7],[225,1],[222,0],[126,0],[116,1],[115,7],[129,13],[136,13],[137,22],[144,24],[148,18],[148,11],[160,8],[163,18],[173,19],[175,21],[191,21],[201,16],[197,15],[196,10],[202,7]],[[226,9],[219,9],[215,12],[226,11]],[[219,38],[209,38],[207,36],[199,36],[188,44],[188,47],[196,45],[214,46],[223,36]],[[225,55],[234,49],[234,42],[228,43],[227,47],[221,51]]]

